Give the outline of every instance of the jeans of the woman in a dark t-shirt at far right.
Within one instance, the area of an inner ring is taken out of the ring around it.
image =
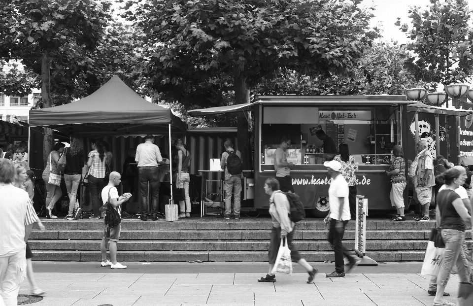
[[[442,230],[442,238],[445,241],[445,253],[440,267],[439,275],[437,275],[437,284],[446,286],[453,265],[457,266],[458,277],[461,282],[468,282],[468,261],[463,251],[463,241],[465,240],[465,232],[457,230]]]

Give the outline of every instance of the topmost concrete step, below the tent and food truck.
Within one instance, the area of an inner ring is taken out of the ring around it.
[[[79,219],[73,221],[60,219],[43,219],[44,226],[49,230],[100,230],[103,228],[103,220]],[[389,220],[368,220],[367,230],[421,230],[435,227],[435,221],[419,222],[408,220],[403,222]],[[34,225],[37,229],[37,225]],[[122,220],[122,230],[268,230],[271,228],[271,221],[268,218],[262,219],[241,219],[241,220],[222,220],[222,219],[186,219],[175,222],[158,221],[140,221],[136,219]],[[325,230],[328,229],[320,219],[309,219],[297,224],[298,230]],[[354,230],[355,221],[348,222],[346,230]]]

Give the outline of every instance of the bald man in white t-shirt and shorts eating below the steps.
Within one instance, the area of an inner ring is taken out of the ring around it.
[[[110,180],[108,181],[108,185],[103,187],[102,189],[102,201],[103,203],[107,203],[108,199],[110,199],[110,204],[112,204],[113,209],[118,210],[118,215],[120,215],[120,205],[123,202],[128,201],[132,196],[129,193],[122,195],[121,197],[118,196],[118,190],[115,186],[118,186],[121,182],[121,176],[118,172],[110,172]],[[111,269],[126,269],[127,266],[124,266],[117,262],[117,242],[120,239],[120,230],[122,224],[119,223],[114,227],[109,227],[106,223],[104,223],[103,229],[103,238],[100,244],[100,251],[102,253],[102,262],[101,267],[110,266]],[[106,242],[108,241],[110,250],[110,258],[111,261],[107,260],[107,247]]]

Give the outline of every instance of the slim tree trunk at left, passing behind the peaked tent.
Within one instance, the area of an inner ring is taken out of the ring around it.
[[[45,52],[41,58],[41,100],[43,103],[43,108],[51,107],[51,92],[50,92],[50,78],[49,78],[49,69],[50,69],[50,59],[48,52]],[[43,163],[46,167],[46,162],[49,156],[49,153],[53,149],[53,140],[54,133],[52,129],[44,128],[43,136]]]

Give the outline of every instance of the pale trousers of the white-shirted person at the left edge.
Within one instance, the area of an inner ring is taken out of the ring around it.
[[[22,259],[25,260],[24,251],[0,257],[0,305],[17,305]]]

